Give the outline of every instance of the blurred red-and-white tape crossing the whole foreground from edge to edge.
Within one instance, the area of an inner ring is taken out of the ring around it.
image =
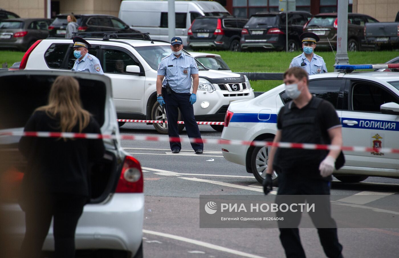
[[[73,138],[73,139],[121,139],[131,141],[181,141],[191,143],[209,143],[218,145],[251,145],[251,146],[276,146],[290,149],[307,150],[339,150],[360,151],[360,152],[380,152],[399,153],[399,149],[373,148],[357,146],[337,146],[311,143],[273,143],[270,141],[230,141],[223,139],[201,139],[188,137],[168,137],[168,136],[148,136],[148,135],[101,135],[97,133],[59,133],[59,132],[0,132],[0,137],[4,136],[27,136],[27,137],[51,137],[51,138]]]

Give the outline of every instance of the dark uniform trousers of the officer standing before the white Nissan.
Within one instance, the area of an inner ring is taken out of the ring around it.
[[[172,90],[171,90],[172,91]],[[201,133],[199,133],[198,124],[194,118],[194,108],[190,103],[190,93],[176,93],[172,91],[171,94],[166,94],[163,90],[165,104],[166,104],[166,116],[168,117],[168,134],[169,137],[179,137],[178,129],[178,116],[180,112],[183,116],[184,125],[186,126],[187,135],[189,138],[201,138]],[[202,141],[196,143],[191,143],[194,151],[198,149],[203,150]],[[173,151],[175,149],[181,150],[182,144],[180,141],[170,141],[170,149]]]

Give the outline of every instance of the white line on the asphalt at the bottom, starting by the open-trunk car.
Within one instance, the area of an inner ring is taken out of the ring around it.
[[[221,251],[221,252],[227,252],[229,254],[235,254],[235,255],[239,255],[239,256],[243,256],[243,257],[265,258],[265,257],[262,257],[262,256],[257,256],[257,255],[254,255],[254,254],[248,254],[248,253],[245,253],[245,252],[240,252],[240,251],[237,251],[237,250],[233,250],[233,249],[226,248],[226,247],[223,247],[223,246],[218,246],[218,245],[215,245],[215,244],[209,244],[207,242],[202,242],[202,241],[194,240],[194,239],[191,239],[191,238],[179,237],[179,236],[176,236],[176,235],[171,235],[171,234],[166,234],[166,233],[161,233],[161,232],[156,232],[156,231],[150,231],[150,230],[146,230],[146,229],[143,229],[143,233],[152,234],[152,235],[156,235],[156,236],[160,236],[160,237],[172,238],[172,239],[179,240],[179,241],[182,241],[182,242],[187,242],[187,243],[190,243],[190,244],[196,244],[196,245],[203,246],[203,247],[206,247],[206,248],[209,248],[209,249],[218,250],[218,251]]]

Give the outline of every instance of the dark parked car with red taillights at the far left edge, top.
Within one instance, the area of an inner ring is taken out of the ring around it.
[[[16,18],[0,22],[0,47],[26,51],[38,39],[49,35],[52,19]]]

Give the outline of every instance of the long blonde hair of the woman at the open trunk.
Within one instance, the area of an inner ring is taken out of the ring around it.
[[[58,76],[51,85],[48,104],[36,110],[45,111],[49,117],[59,118],[61,132],[71,132],[79,122],[81,133],[89,125],[90,113],[82,108],[79,82],[71,76]]]

